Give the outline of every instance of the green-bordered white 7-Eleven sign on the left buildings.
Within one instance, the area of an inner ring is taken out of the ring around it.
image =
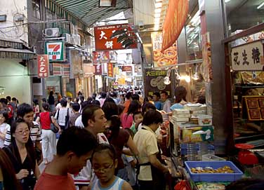
[[[50,62],[64,61],[63,41],[46,41],[45,54],[48,55],[48,60]]]

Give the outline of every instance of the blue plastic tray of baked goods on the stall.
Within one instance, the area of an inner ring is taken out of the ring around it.
[[[194,182],[233,182],[240,179],[243,172],[231,161],[185,161],[187,172]],[[229,166],[234,173],[193,173],[191,168],[211,167],[213,169]]]

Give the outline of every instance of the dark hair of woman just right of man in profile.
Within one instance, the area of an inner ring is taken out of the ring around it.
[[[109,128],[109,130],[111,130],[109,140],[111,140],[112,137],[118,136],[119,129],[121,126],[121,121],[118,116],[118,107],[117,104],[113,102],[105,102],[103,104],[102,109],[105,112],[105,118],[107,119],[107,121],[111,121],[111,125]]]

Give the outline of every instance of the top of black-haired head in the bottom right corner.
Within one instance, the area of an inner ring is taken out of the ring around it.
[[[264,180],[263,179],[239,179],[225,187],[225,190],[263,190]]]

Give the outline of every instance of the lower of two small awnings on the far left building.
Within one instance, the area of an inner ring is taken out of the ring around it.
[[[0,58],[33,59],[34,52],[25,49],[0,48]]]

